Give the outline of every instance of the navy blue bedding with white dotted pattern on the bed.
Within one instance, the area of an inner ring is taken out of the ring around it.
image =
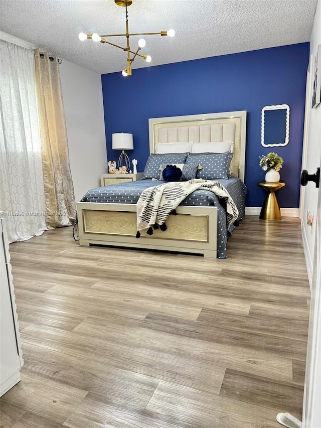
[[[238,178],[228,180],[216,180],[220,182],[231,195],[239,211],[238,220],[245,215],[245,196],[247,188]],[[114,204],[136,204],[141,192],[147,187],[164,184],[164,181],[139,180],[111,186],[98,187],[89,190],[80,202],[102,202]],[[226,213],[220,204],[218,197],[208,190],[197,190],[189,195],[180,204],[181,206],[215,206],[218,207],[218,231],[217,231],[217,258],[226,258],[226,244],[228,235],[235,229],[232,225],[226,228]]]

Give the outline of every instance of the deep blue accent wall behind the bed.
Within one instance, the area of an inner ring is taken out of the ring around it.
[[[139,58],[136,59],[139,61]],[[246,206],[261,206],[265,191],[259,156],[276,152],[284,160],[280,171],[286,186],[279,190],[280,207],[298,208],[302,157],[306,71],[309,43],[203,58],[161,66],[103,74],[102,91],[108,160],[118,159],[111,149],[113,132],[133,134],[130,160],[143,171],[149,155],[148,118],[247,110],[245,184]],[[261,146],[261,110],[266,105],[290,107],[289,144]]]

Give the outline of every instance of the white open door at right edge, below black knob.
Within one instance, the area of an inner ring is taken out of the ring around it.
[[[311,172],[310,172],[311,173]],[[308,186],[314,186],[309,183]],[[321,428],[321,183],[316,213],[315,250],[307,343],[303,428]]]

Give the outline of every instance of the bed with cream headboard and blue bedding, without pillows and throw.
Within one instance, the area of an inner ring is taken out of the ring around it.
[[[156,145],[194,145],[210,141],[233,141],[231,177],[218,180],[236,201],[241,220],[245,214],[244,185],[246,111],[209,113],[149,119],[149,152]],[[201,146],[199,146],[201,147]],[[151,236],[136,238],[136,202],[142,190],[162,184],[149,179],[92,189],[77,203],[80,245],[110,245],[167,250],[226,258],[227,230],[224,207],[218,198],[198,190],[186,198],[166,221],[167,230],[154,230]],[[128,185],[130,186],[128,188]],[[202,193],[203,192],[203,193]],[[209,193],[209,192],[208,192]],[[237,222],[236,222],[237,224]]]

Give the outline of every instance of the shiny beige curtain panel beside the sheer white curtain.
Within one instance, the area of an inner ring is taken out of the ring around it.
[[[76,204],[71,178],[58,58],[35,50],[46,224],[70,225]]]

